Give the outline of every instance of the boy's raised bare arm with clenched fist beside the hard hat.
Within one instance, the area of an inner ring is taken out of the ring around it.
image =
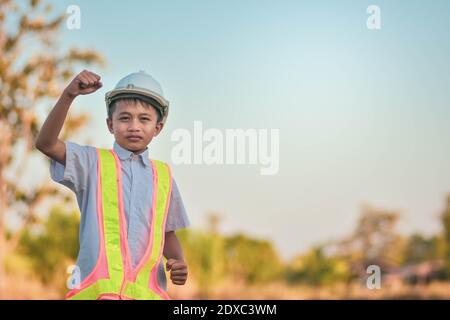
[[[84,70],[64,89],[55,107],[52,109],[36,139],[36,149],[48,157],[66,164],[66,145],[58,136],[66,120],[72,101],[80,94],[89,94],[102,87],[100,76]]]

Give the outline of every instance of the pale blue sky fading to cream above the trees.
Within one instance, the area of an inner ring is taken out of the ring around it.
[[[177,165],[194,227],[270,238],[290,257],[348,234],[363,203],[403,214],[403,232],[439,231],[450,192],[448,1],[54,1],[76,4],[81,29],[60,48],[99,51],[104,87],[72,109],[91,113],[77,137],[110,147],[104,93],[145,70],[171,113],[150,146],[170,161],[177,128],[280,130],[280,171]],[[366,8],[381,9],[381,30]]]

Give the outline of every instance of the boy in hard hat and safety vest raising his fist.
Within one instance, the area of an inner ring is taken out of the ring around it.
[[[169,103],[150,75],[132,73],[106,94],[113,149],[59,140],[72,101],[101,87],[97,74],[78,74],[36,140],[52,159],[52,179],[75,192],[81,212],[79,275],[66,298],[170,299],[162,255],[172,282],[185,284],[175,230],[190,223],[168,165],[149,159],[147,148],[164,126]]]

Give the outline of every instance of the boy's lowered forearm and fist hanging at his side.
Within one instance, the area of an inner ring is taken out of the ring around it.
[[[188,268],[184,261],[183,250],[175,231],[165,234],[164,257],[167,259],[166,269],[170,270],[170,279],[173,284],[183,285],[187,280]]]

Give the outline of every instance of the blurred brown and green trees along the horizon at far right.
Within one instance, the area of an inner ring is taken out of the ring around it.
[[[442,262],[444,278],[450,275],[450,196],[441,214],[442,231],[423,236],[397,231],[400,213],[364,206],[353,233],[318,245],[296,257],[288,266],[289,283],[329,285],[365,278],[369,265],[398,270],[426,262]]]

